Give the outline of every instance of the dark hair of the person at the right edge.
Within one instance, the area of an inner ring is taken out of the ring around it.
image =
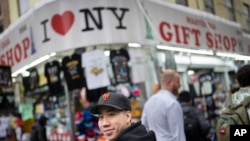
[[[236,78],[241,87],[250,86],[250,64],[241,67],[236,74]]]

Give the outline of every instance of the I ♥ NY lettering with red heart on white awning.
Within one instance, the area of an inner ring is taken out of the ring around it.
[[[129,30],[134,29],[128,29],[128,26],[131,26],[129,21],[131,15],[136,11],[126,7],[126,4],[125,6],[87,6],[75,9],[71,7],[54,12],[52,15],[48,14],[51,15],[51,18],[44,18],[40,24],[37,24],[40,33],[43,33],[39,37],[42,46],[50,44],[60,46],[58,43],[62,41],[78,47],[86,45],[86,43],[99,44],[113,40],[112,36],[117,38],[117,34],[127,34]],[[111,36],[107,36],[109,34]],[[79,40],[76,40],[77,38]],[[102,38],[105,38],[105,41],[102,41]],[[82,42],[83,40],[85,42]]]

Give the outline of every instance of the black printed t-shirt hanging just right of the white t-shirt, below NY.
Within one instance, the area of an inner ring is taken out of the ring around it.
[[[110,51],[110,61],[116,84],[131,82],[128,67],[129,59],[129,54],[125,49]]]

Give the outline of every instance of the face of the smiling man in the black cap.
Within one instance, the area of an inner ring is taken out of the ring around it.
[[[101,106],[99,108],[98,125],[106,139],[112,141],[130,126],[131,112],[116,110],[112,107]]]

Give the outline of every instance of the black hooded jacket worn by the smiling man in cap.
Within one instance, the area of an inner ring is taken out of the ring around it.
[[[124,130],[116,141],[156,141],[156,137],[153,131],[147,131],[141,122],[137,122]]]

